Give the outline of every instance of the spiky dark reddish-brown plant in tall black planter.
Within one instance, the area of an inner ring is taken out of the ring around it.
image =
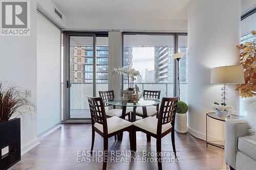
[[[35,111],[24,92],[14,85],[0,82],[0,169],[7,169],[20,160],[20,118]]]

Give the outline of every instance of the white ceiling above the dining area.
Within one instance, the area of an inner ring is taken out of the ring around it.
[[[190,0],[52,0],[65,17],[187,19]]]

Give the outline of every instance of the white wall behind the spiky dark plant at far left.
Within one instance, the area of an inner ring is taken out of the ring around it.
[[[30,36],[0,36],[0,81],[10,81],[32,92],[36,104],[36,2],[30,3]],[[37,140],[37,115],[21,118],[22,153]]]

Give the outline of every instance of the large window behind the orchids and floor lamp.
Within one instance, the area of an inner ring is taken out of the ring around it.
[[[185,53],[180,59],[180,97],[187,101],[187,36],[179,34],[123,34],[123,67],[139,70],[134,84],[140,91],[161,90],[161,97],[174,96],[175,82],[175,36],[178,37],[177,53]],[[123,89],[127,77],[123,76]],[[178,91],[178,90],[177,90]]]

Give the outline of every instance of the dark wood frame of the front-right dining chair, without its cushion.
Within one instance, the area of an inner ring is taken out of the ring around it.
[[[175,115],[176,115],[176,108],[177,103],[179,100],[179,96],[175,98],[163,98],[162,103],[160,106],[159,114],[158,114],[158,123],[157,123],[157,134],[148,132],[144,129],[141,129],[139,127],[134,126],[134,133],[132,135],[135,135],[135,141],[134,141],[134,150],[136,151],[136,131],[144,132],[146,135],[152,136],[157,139],[156,145],[157,145],[157,153],[161,152],[161,139],[171,133],[171,139],[172,139],[172,145],[173,145],[173,152],[176,156],[176,148],[175,148],[175,132],[174,132],[174,126],[175,126]],[[164,124],[172,124],[172,128],[162,133],[162,125]],[[157,154],[157,164],[158,169],[162,169],[162,163],[159,161],[161,159],[161,155]]]

